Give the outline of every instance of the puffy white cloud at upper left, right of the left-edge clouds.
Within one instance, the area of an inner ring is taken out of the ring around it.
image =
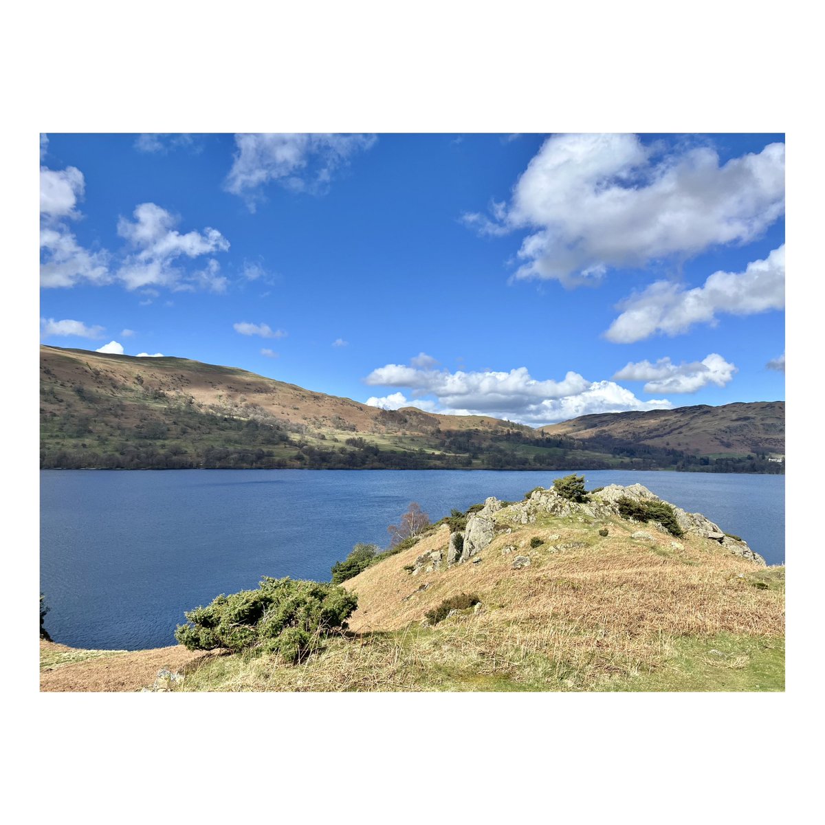
[[[117,224],[117,233],[134,250],[117,272],[127,290],[148,285],[177,290],[225,290],[226,279],[217,276],[215,270],[217,262],[210,262],[205,270],[192,274],[177,266],[181,257],[195,258],[228,250],[229,241],[217,229],[206,227],[203,233],[193,230],[181,235],[175,229],[178,219],[153,203],[137,205],[133,214],[134,221],[120,218]]]

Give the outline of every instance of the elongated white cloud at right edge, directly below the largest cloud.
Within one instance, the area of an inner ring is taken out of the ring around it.
[[[714,272],[702,286],[686,290],[656,281],[621,304],[622,313],[605,337],[615,343],[643,341],[657,332],[674,336],[695,323],[716,323],[716,315],[752,315],[785,307],[785,244],[744,272]]]

